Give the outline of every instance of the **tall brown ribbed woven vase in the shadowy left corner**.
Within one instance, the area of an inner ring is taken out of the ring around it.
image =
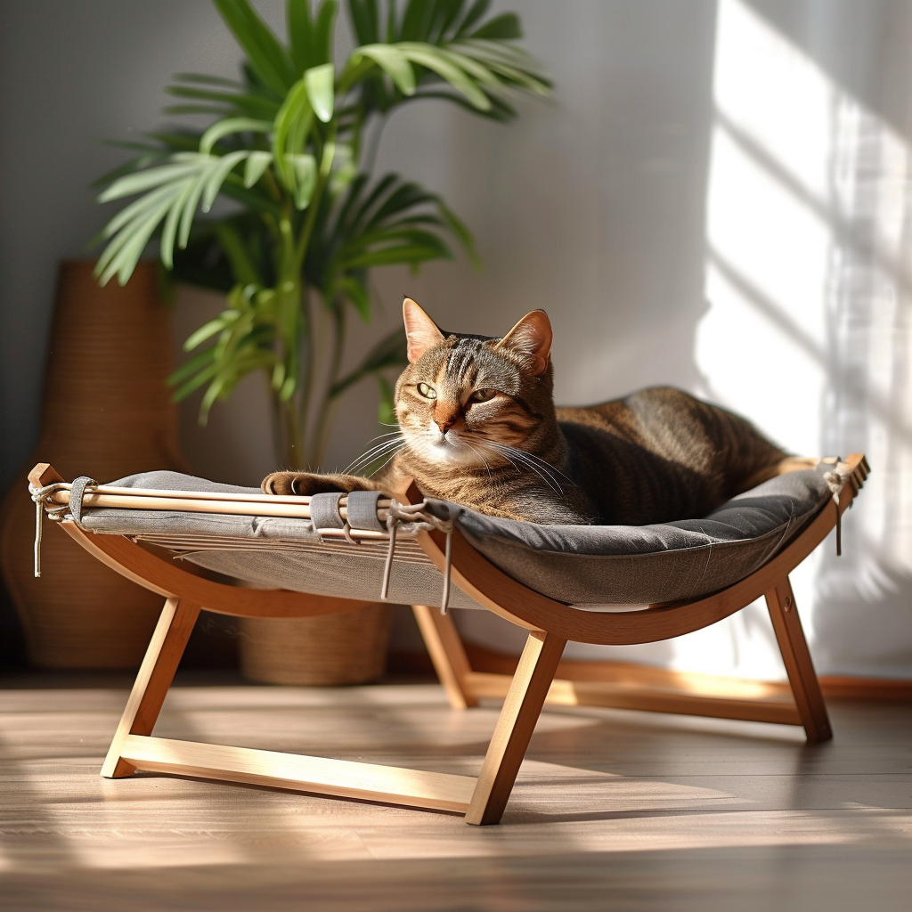
[[[184,469],[171,371],[168,313],[155,267],[141,263],[123,288],[104,288],[93,264],[60,266],[41,435],[0,513],[0,569],[38,668],[135,668],[161,596],[102,565],[45,521],[40,579],[32,565],[35,506],[26,472],[50,462],[72,480],[110,482],[150,469]]]

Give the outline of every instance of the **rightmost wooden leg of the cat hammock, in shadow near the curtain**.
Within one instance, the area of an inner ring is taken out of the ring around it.
[[[807,733],[807,740],[829,741],[833,737],[833,730],[826,715],[824,694],[804,639],[788,576],[766,594],[766,605],[770,609],[772,628],[776,632],[782,661],[792,685],[795,705]]]

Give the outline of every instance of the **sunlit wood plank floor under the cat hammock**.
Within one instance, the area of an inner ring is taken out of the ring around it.
[[[88,687],[87,684],[94,686]],[[78,686],[75,686],[78,685]],[[0,679],[0,908],[912,908],[912,705],[784,726],[546,710],[503,824],[165,777],[98,776],[126,680]],[[156,733],[475,773],[496,710],[433,684],[184,679]]]

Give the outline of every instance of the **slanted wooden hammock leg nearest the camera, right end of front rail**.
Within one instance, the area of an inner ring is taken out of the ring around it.
[[[467,824],[500,822],[565,646],[566,640],[554,634],[529,634],[465,815]]]

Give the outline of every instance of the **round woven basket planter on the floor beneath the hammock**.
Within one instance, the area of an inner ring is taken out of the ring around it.
[[[389,605],[339,615],[240,618],[241,671],[263,684],[367,684],[387,664]]]

